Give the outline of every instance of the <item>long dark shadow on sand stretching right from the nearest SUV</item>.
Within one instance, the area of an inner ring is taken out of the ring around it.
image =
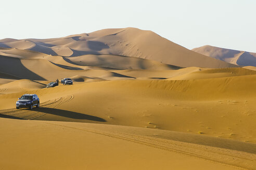
[[[106,122],[105,119],[100,117],[80,114],[79,112],[61,110],[56,108],[40,107],[40,108],[34,108],[33,110],[44,112],[45,114],[52,114],[52,115],[62,116],[62,117],[71,118],[71,119],[84,119],[84,120],[92,120],[92,121],[98,121],[98,122]]]

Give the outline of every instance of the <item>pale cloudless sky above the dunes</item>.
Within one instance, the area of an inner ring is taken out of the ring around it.
[[[0,39],[137,27],[188,49],[211,45],[256,52],[255,9],[255,0],[3,0]]]

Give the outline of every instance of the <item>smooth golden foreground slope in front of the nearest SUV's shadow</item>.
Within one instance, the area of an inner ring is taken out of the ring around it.
[[[135,135],[132,131],[140,129],[130,131],[129,127],[2,118],[0,122],[3,168],[236,169],[254,166],[255,157],[251,153]],[[12,135],[3,133],[6,131]],[[153,132],[155,136],[157,133]],[[9,148],[13,148],[12,151]],[[239,157],[234,157],[236,154],[240,154]]]

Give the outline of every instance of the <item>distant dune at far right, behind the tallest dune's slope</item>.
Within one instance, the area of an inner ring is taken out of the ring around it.
[[[192,49],[200,54],[241,66],[256,66],[256,53],[202,46]]]

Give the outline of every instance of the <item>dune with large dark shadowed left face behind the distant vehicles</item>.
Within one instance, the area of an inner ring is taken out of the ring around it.
[[[108,70],[88,69],[89,67],[86,66],[74,65],[66,62],[61,57],[53,60],[47,60],[47,58],[51,58],[51,56],[43,58],[41,55],[41,58],[39,58],[37,55],[35,59],[30,57],[29,59],[19,59],[2,55],[0,57],[0,72],[5,75],[31,80],[56,80],[57,78],[61,79],[76,75],[104,79],[129,78],[128,76],[113,73]],[[60,64],[54,63],[55,61]],[[165,66],[164,64],[162,65]],[[166,67],[168,67],[168,65]]]

